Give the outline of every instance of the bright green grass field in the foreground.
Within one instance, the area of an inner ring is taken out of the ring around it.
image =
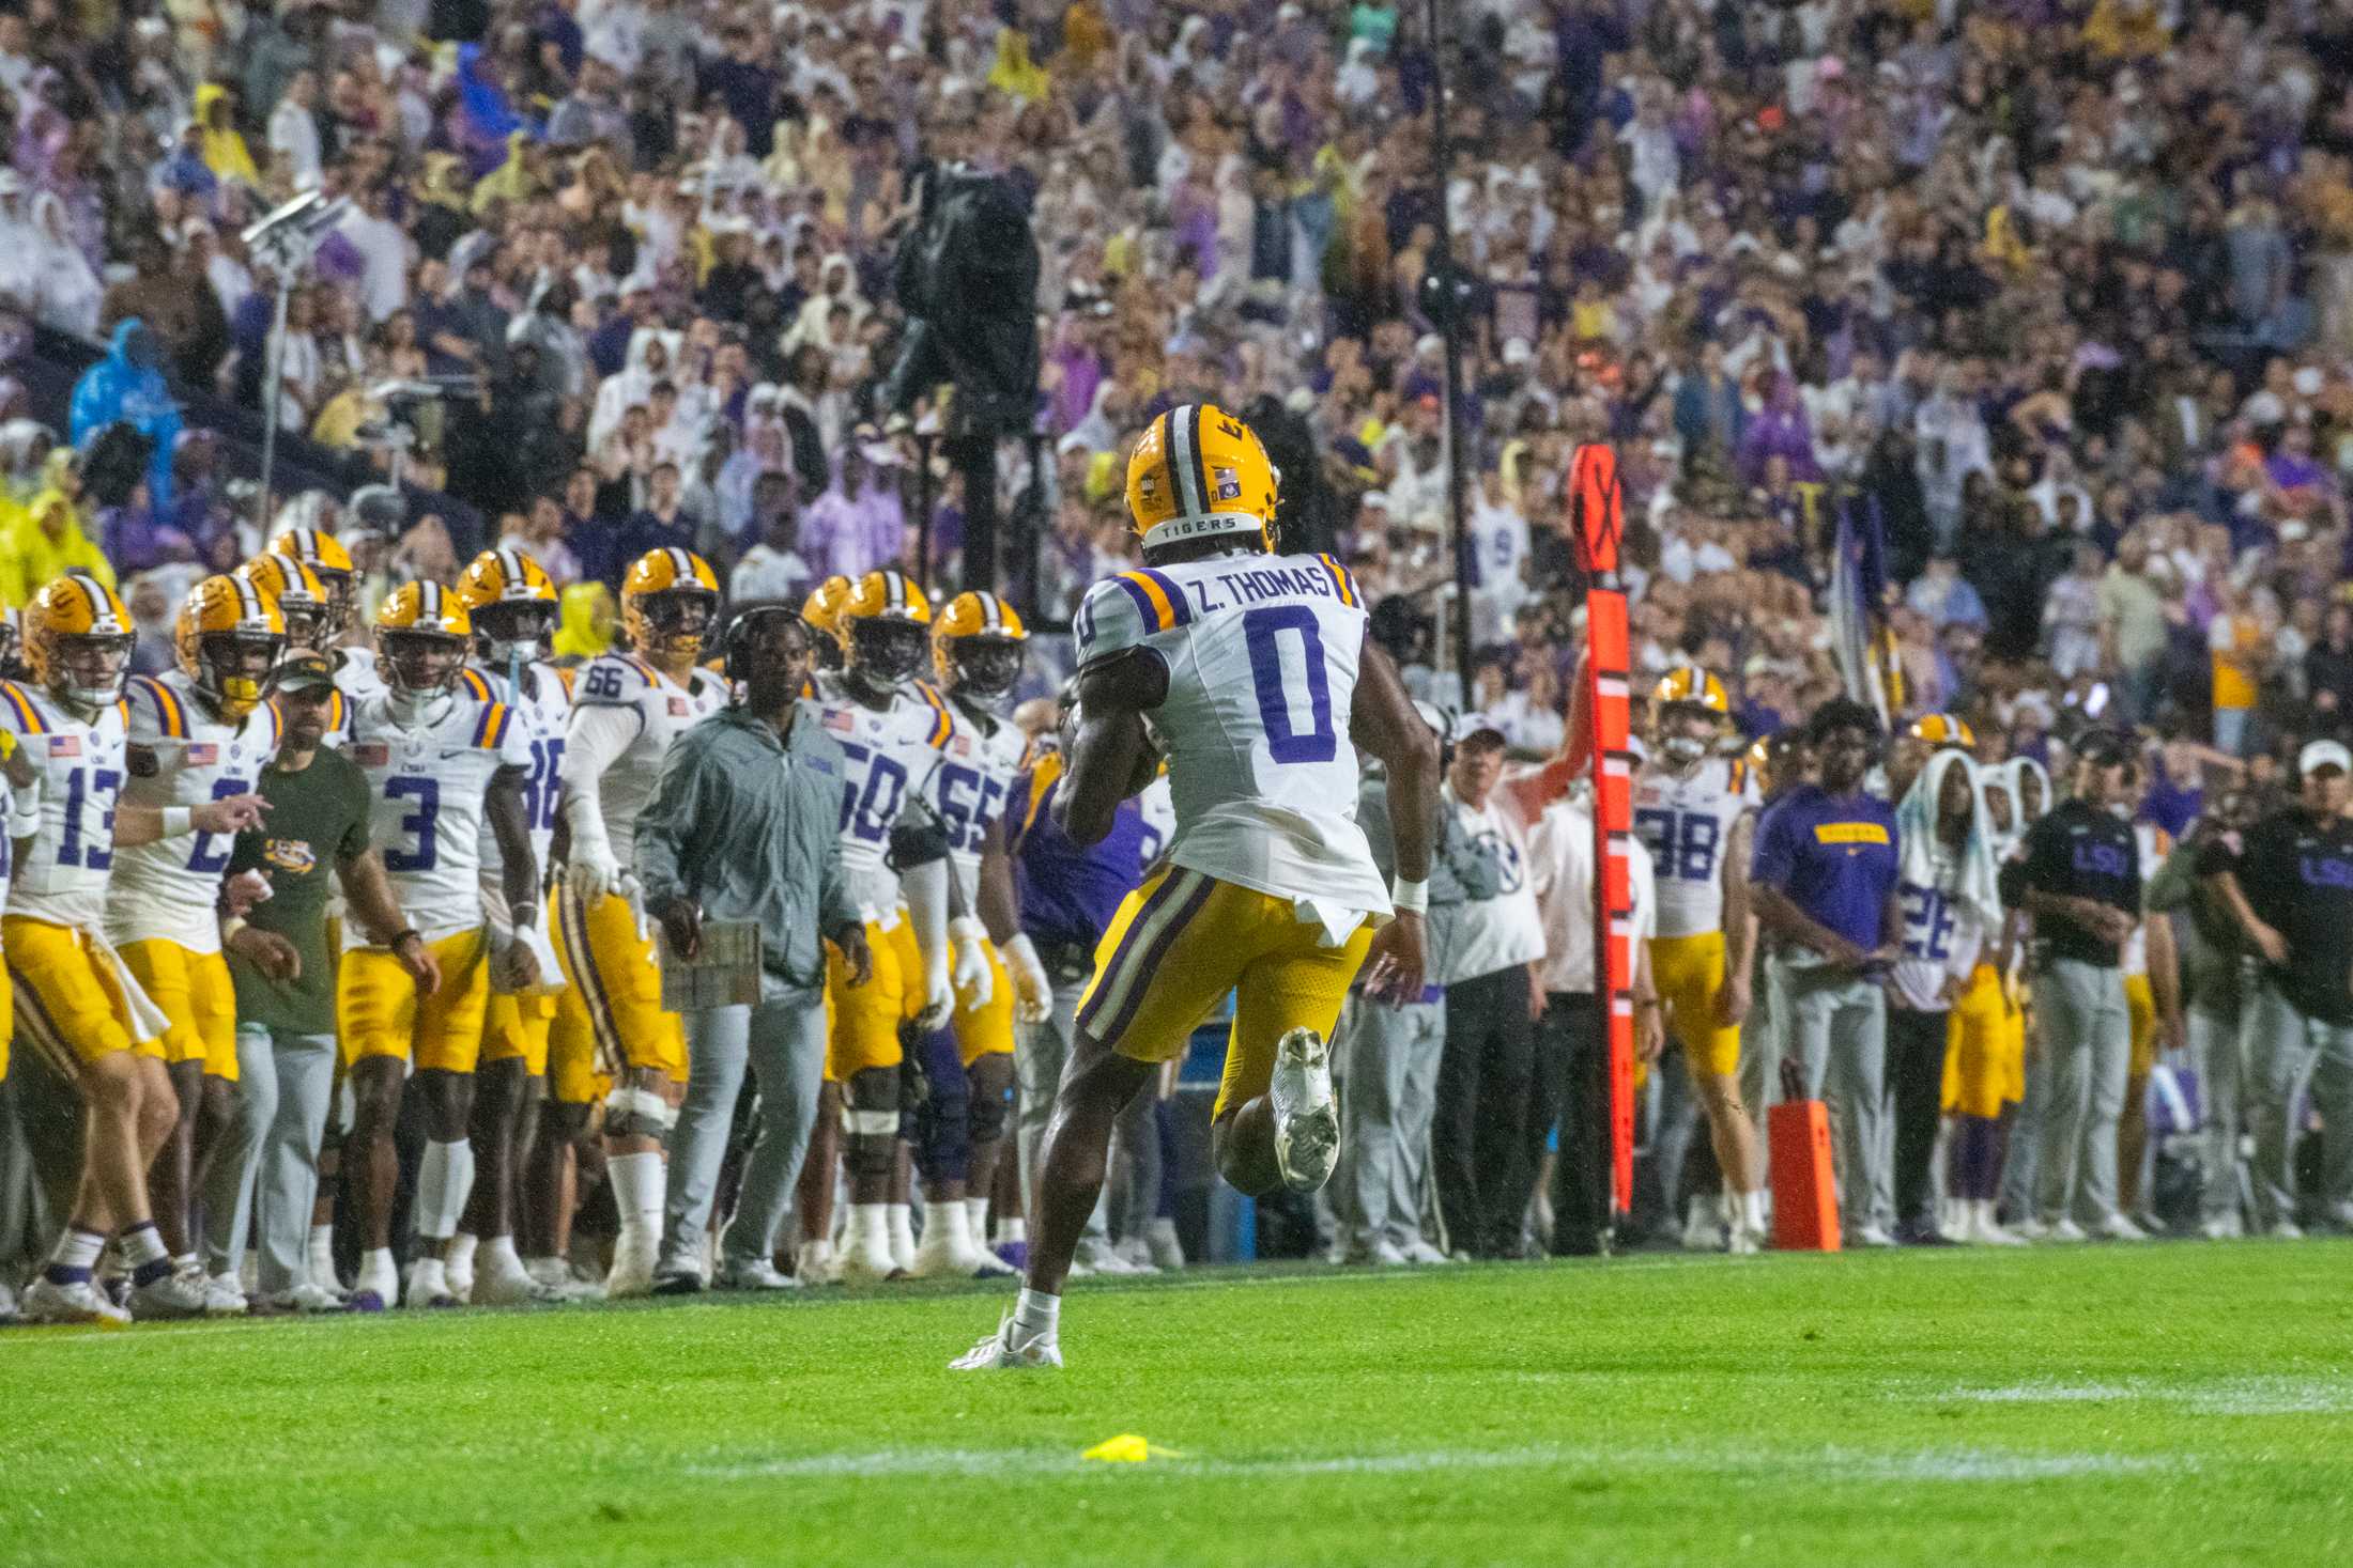
[[[2346,1241],[1007,1300],[0,1333],[0,1563],[2353,1561]]]

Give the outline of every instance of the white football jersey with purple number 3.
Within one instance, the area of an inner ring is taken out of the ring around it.
[[[513,710],[459,682],[405,726],[388,696],[362,698],[351,708],[348,755],[367,776],[367,842],[384,856],[400,912],[428,943],[480,929],[482,797],[501,766],[532,766]],[[344,924],[344,945],[367,945],[358,924]]]

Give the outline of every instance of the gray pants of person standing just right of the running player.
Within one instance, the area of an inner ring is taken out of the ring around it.
[[[1421,1178],[1447,1004],[1388,1006],[1348,992],[1332,1044],[1341,1070],[1341,1164],[1332,1208],[1353,1251],[1384,1237],[1405,1246],[1421,1237]]]

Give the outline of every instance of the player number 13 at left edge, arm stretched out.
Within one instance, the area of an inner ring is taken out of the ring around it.
[[[261,820],[261,802],[120,802],[132,618],[96,578],[64,576],[33,595],[24,651],[33,684],[0,684],[0,726],[16,741],[9,837],[24,846],[0,940],[16,1034],[80,1098],[82,1168],[73,1213],[21,1312],[47,1324],[122,1321],[92,1281],[99,1248],[115,1237],[132,1269],[129,1316],[195,1316],[205,1291],[174,1274],[148,1211],[148,1164],[179,1119],[162,1063],[167,1020],[106,940],[106,884],[118,851],[235,835]]]

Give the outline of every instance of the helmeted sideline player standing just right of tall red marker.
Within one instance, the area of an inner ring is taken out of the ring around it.
[[[1725,1178],[1722,1194],[1692,1194],[1682,1246],[1755,1253],[1765,1246],[1765,1194],[1753,1180],[1758,1131],[1739,1070],[1755,964],[1748,837],[1758,792],[1746,759],[1715,752],[1729,717],[1725,684],[1711,672],[1666,672],[1652,691],[1652,757],[1635,778],[1633,825],[1659,884],[1652,976]]]

